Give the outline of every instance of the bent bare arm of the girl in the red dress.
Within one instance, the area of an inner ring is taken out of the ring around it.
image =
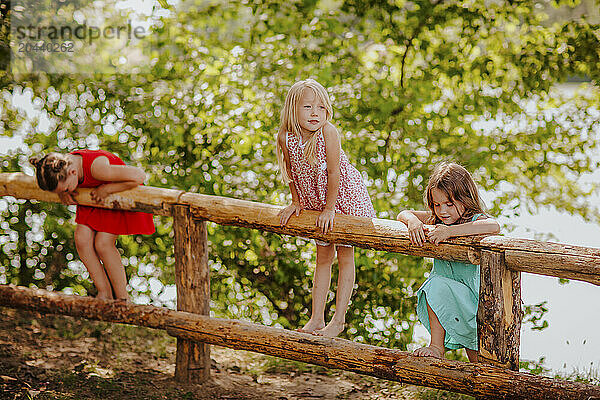
[[[90,172],[93,178],[110,182],[92,190],[92,199],[97,202],[104,200],[112,193],[139,186],[146,179],[146,174],[142,169],[128,165],[110,165],[108,158],[104,156],[97,157],[92,162]]]

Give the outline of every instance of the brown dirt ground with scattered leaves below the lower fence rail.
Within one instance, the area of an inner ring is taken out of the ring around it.
[[[467,399],[275,357],[211,347],[211,380],[173,378],[163,331],[0,307],[0,399]]]

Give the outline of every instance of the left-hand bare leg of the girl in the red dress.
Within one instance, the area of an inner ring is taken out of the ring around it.
[[[96,231],[89,226],[77,224],[75,227],[75,247],[77,247],[79,259],[87,268],[90,278],[98,290],[97,298],[112,299],[110,282],[94,248],[95,238]]]

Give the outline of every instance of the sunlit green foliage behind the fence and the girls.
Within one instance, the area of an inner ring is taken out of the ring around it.
[[[452,159],[490,193],[494,215],[552,205],[599,220],[584,200],[596,188],[577,178],[598,166],[600,95],[571,101],[552,91],[574,75],[598,84],[597,26],[585,19],[548,23],[535,1],[183,3],[161,2],[150,17],[153,35],[142,43],[157,49],[150,73],[0,76],[0,130],[28,149],[5,157],[2,170],[31,173],[30,152],[99,146],[144,168],[152,186],[286,204],[278,115],[289,86],[314,77],[330,91],[342,148],[378,216],[422,208],[431,166]],[[37,119],[15,96],[32,99]],[[81,265],[66,261],[76,259],[64,223],[71,211],[5,204],[0,275],[90,293]],[[174,282],[173,235],[170,219],[156,222],[155,235],[119,245],[132,294],[161,304],[151,286]],[[312,244],[214,224],[209,241],[215,315],[286,328],[307,321]],[[405,349],[412,294],[430,264],[357,250],[356,265],[346,337]]]

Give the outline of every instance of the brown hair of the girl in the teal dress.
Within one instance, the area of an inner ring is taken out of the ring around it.
[[[442,162],[434,168],[425,190],[424,201],[431,210],[431,218],[427,221],[429,224],[442,223],[442,220],[435,214],[433,209],[431,191],[434,188],[443,191],[450,200],[459,202],[465,207],[465,211],[455,222],[456,224],[470,222],[475,214],[485,214],[485,206],[479,197],[479,191],[469,171],[456,163]]]

